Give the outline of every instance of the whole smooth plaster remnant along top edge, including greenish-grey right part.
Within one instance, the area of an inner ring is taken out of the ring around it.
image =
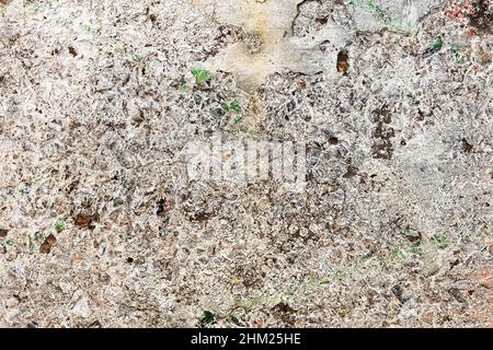
[[[353,1],[349,11],[357,31],[377,32],[385,27],[408,31],[439,3],[439,0],[393,0],[371,8],[368,1],[359,0]],[[215,22],[242,31],[246,39],[226,47],[209,59],[207,66],[233,72],[239,85],[249,92],[275,72],[336,75],[337,54],[353,40],[347,27],[336,24],[330,15],[323,16],[324,12],[336,11],[336,1],[196,0],[194,4],[207,11]],[[300,38],[295,31],[298,20],[302,20],[299,18],[303,15],[300,11],[303,7],[312,13],[321,13],[319,20],[323,25]]]

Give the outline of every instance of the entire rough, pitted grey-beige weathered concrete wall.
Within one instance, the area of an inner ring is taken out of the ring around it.
[[[492,325],[491,5],[92,3],[0,10],[0,325]],[[190,180],[216,131],[306,190]]]

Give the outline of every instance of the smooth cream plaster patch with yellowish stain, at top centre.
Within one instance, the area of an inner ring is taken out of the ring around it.
[[[347,33],[332,21],[310,40],[295,37],[293,31],[299,0],[198,2],[206,2],[203,5],[209,9],[215,21],[238,27],[246,38],[226,47],[208,61],[208,66],[214,70],[234,73],[240,88],[249,92],[275,72],[332,72],[336,51],[331,49],[324,52],[320,45],[328,37],[332,37],[332,45],[339,48],[349,40]]]

